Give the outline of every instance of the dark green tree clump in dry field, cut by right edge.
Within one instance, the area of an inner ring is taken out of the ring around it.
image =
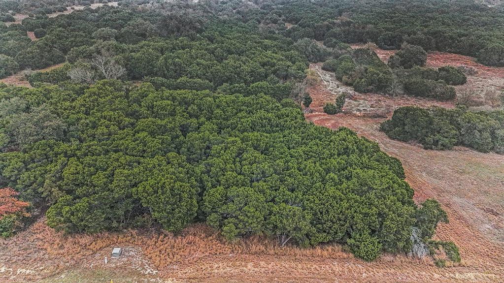
[[[393,139],[416,141],[426,149],[452,149],[461,145],[480,152],[502,153],[502,121],[502,111],[401,107],[381,128]]]

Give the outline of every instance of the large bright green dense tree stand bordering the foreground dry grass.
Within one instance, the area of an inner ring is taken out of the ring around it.
[[[348,129],[306,123],[292,101],[113,80],[4,85],[0,96],[3,182],[50,205],[58,230],[155,221],[176,232],[201,220],[229,240],[338,241],[367,260],[411,247],[401,163]]]

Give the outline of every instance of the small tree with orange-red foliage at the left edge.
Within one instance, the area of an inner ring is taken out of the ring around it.
[[[19,221],[22,217],[29,216],[26,208],[30,203],[17,198],[18,192],[12,188],[0,189],[0,235],[2,237],[11,236],[17,227],[21,226]]]

